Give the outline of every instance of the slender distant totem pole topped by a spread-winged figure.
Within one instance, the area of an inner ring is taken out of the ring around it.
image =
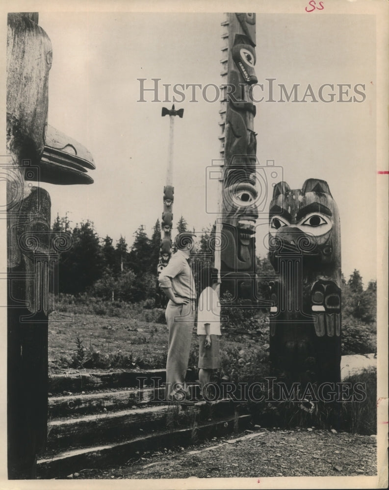
[[[159,275],[162,270],[167,266],[170,256],[172,254],[172,227],[173,227],[173,201],[174,201],[174,187],[173,187],[173,135],[174,135],[174,117],[179,116],[182,118],[183,109],[176,110],[173,107],[169,110],[166,107],[162,107],[162,117],[169,116],[169,147],[168,147],[168,164],[166,171],[166,185],[163,188],[163,212],[162,212],[162,226],[161,226],[161,243],[159,247],[159,260],[157,274]],[[159,292],[158,281],[156,291]],[[156,304],[159,307],[166,306],[166,297],[164,294],[157,293]]]

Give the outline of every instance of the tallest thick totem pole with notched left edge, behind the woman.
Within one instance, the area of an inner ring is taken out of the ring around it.
[[[256,106],[251,86],[255,73],[254,13],[227,13],[222,23],[221,158],[224,161],[215,267],[220,270],[220,294],[254,301],[257,141]],[[219,255],[219,257],[218,257]],[[220,262],[220,265],[219,265]]]

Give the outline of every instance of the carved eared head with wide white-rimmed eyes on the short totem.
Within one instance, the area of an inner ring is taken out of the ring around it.
[[[272,263],[285,253],[301,254],[313,264],[340,262],[340,223],[327,182],[308,179],[301,190],[291,190],[286,182],[275,186],[269,250]]]

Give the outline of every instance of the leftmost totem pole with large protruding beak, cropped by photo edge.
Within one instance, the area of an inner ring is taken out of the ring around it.
[[[8,478],[35,476],[46,444],[49,292],[56,257],[70,246],[51,234],[49,193],[31,181],[93,180],[91,154],[47,125],[52,46],[37,13],[8,14],[7,35],[7,429]]]

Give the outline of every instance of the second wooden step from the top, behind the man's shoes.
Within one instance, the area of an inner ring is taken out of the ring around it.
[[[191,396],[198,397],[200,384],[188,384]],[[49,417],[66,417],[75,414],[94,414],[141,406],[163,400],[164,387],[128,388],[121,391],[71,394],[49,397]]]

